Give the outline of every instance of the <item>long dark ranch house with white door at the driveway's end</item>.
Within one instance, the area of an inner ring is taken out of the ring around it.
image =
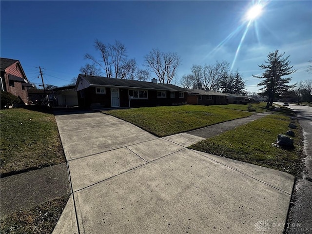
[[[142,107],[186,104],[187,90],[172,84],[78,75],[81,108]]]

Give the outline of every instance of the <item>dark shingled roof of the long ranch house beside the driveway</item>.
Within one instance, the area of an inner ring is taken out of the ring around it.
[[[103,86],[187,92],[186,89],[183,89],[173,84],[161,84],[161,83],[156,84],[152,82],[139,81],[139,80],[85,76],[81,74],[79,74],[79,76],[81,78],[85,78],[91,84],[91,86],[103,85]]]

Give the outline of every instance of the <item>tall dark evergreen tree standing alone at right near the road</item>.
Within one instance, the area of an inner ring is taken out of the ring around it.
[[[258,86],[263,86],[260,88],[262,91],[259,93],[262,96],[268,97],[267,108],[272,106],[273,99],[282,95],[289,90],[290,86],[287,85],[292,78],[282,78],[283,76],[290,75],[296,71],[292,69],[293,66],[290,66],[290,61],[288,57],[283,58],[283,54],[279,54],[278,50],[275,50],[268,55],[268,60],[264,61],[267,64],[258,65],[261,69],[265,69],[262,76],[254,76],[255,78],[260,78],[262,81],[258,83]]]

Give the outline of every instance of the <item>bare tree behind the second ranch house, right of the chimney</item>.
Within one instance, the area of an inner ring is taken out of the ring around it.
[[[195,88],[207,90],[219,89],[222,75],[224,72],[228,72],[229,65],[227,61],[216,61],[214,65],[205,64],[205,66],[193,64],[191,71]]]

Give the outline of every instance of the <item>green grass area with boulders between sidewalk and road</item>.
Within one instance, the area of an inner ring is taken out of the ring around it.
[[[293,130],[295,149],[273,147],[278,134],[289,130],[290,117],[269,115],[190,146],[191,149],[270,167],[296,175],[300,170],[301,130]]]

